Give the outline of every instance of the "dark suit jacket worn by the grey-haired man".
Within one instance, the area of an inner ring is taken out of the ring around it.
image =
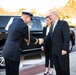
[[[70,29],[66,21],[58,20],[52,33],[51,26],[48,36],[44,40],[52,39],[52,54],[61,55],[62,50],[69,51]]]

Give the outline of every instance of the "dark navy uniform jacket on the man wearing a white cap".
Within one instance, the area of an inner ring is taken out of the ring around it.
[[[28,26],[22,19],[19,19],[10,25],[8,37],[1,55],[4,58],[19,62],[24,38],[28,39]],[[36,39],[32,36],[30,40],[33,43],[36,42]]]

